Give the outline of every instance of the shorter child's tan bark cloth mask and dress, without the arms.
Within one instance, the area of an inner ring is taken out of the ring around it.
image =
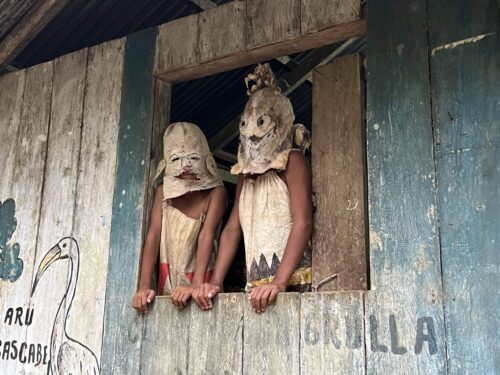
[[[160,243],[159,294],[171,294],[178,285],[189,285],[196,266],[198,235],[203,226],[208,203],[199,219],[186,216],[171,206],[170,199],[190,191],[206,190],[222,185],[215,160],[202,131],[194,124],[171,124],[163,136],[164,159],[159,163],[156,178],[163,176],[163,218]],[[177,178],[189,165],[196,180]],[[208,201],[207,201],[208,202]],[[209,281],[215,263],[214,252],[205,275]]]

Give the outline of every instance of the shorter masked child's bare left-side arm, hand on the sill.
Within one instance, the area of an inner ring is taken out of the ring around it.
[[[132,299],[132,306],[142,313],[148,311],[148,303],[153,300],[155,295],[152,289],[152,279],[158,259],[158,249],[160,248],[162,212],[163,185],[159,185],[155,191],[153,209],[151,210],[151,220],[142,250],[139,287]]]

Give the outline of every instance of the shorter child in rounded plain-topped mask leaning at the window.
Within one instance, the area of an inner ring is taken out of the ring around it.
[[[209,282],[217,232],[226,208],[226,190],[208,142],[194,124],[171,124],[163,137],[164,159],[155,180],[151,222],[142,253],[141,272],[132,306],[148,312],[156,291],[152,279],[160,253],[158,294],[186,306],[193,291]]]

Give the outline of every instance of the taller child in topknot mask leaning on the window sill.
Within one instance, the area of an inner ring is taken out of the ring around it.
[[[235,203],[212,280],[193,299],[202,309],[212,307],[243,234],[246,290],[261,313],[280,292],[311,289],[312,176],[303,155],[310,134],[293,124],[290,100],[268,64],[259,64],[245,82],[250,98],[240,122],[238,163],[231,169],[239,175]]]

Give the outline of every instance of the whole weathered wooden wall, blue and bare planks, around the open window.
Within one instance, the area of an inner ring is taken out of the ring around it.
[[[210,312],[177,311],[167,298],[146,317],[131,309],[148,180],[168,119],[170,85],[153,75],[237,67],[273,57],[272,48],[312,45],[310,36],[332,38],[325,32],[343,24],[327,7],[338,1],[273,4],[289,10],[273,32],[247,18],[268,2],[236,1],[0,77],[0,245],[10,262],[0,274],[12,279],[0,280],[1,373],[47,372],[61,301],[67,335],[103,374],[498,371],[495,1],[368,2],[371,290],[282,294],[263,315],[242,294],[220,296]],[[221,32],[210,25],[228,14],[244,20],[240,43],[206,47]],[[174,23],[199,32],[174,38]],[[31,295],[57,244],[71,256],[52,263]],[[69,272],[76,245],[78,278]],[[72,282],[74,300],[63,300]]]

